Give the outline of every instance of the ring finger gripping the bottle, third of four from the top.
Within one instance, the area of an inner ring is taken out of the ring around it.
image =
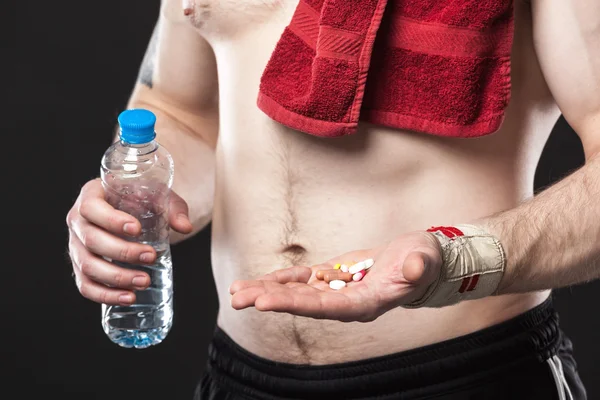
[[[143,290],[150,277],[142,271],[118,267],[90,253],[75,235],[70,235],[71,260],[81,274],[92,281],[120,289]]]

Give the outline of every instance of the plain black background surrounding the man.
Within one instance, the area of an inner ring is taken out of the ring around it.
[[[98,175],[159,1],[2,3],[2,16],[9,17],[3,26],[12,32],[0,69],[8,71],[2,198],[9,237],[2,241],[7,279],[1,291],[0,387],[6,392],[0,397],[191,399],[218,307],[210,227],[173,247],[175,324],[165,342],[145,350],[108,341],[100,306],[79,295],[66,256],[65,216],[80,187]],[[540,160],[536,188],[582,162],[579,139],[559,120]],[[590,399],[600,398],[599,288],[593,282],[555,292]],[[9,394],[11,388],[16,391]]]

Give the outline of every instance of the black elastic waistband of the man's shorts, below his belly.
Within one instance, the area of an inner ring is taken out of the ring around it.
[[[549,298],[498,325],[400,353],[329,365],[297,365],[261,358],[216,327],[208,373],[227,387],[260,398],[304,398],[324,392],[384,396],[386,386],[406,390],[465,379],[524,361],[544,361],[560,345],[559,318]],[[326,383],[326,388],[324,388]],[[368,387],[368,389],[367,389]]]

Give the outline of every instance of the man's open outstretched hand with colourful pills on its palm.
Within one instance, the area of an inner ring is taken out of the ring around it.
[[[358,282],[334,290],[317,279],[319,270],[337,263],[372,258],[375,263]],[[437,240],[414,232],[374,249],[346,253],[312,267],[294,266],[256,280],[235,281],[230,287],[235,309],[286,312],[319,319],[368,322],[384,312],[419,298],[441,265]]]

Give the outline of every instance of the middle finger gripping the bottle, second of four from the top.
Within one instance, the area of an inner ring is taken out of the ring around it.
[[[151,264],[156,259],[156,251],[152,246],[118,238],[83,218],[73,224],[72,231],[94,254],[131,264]]]

